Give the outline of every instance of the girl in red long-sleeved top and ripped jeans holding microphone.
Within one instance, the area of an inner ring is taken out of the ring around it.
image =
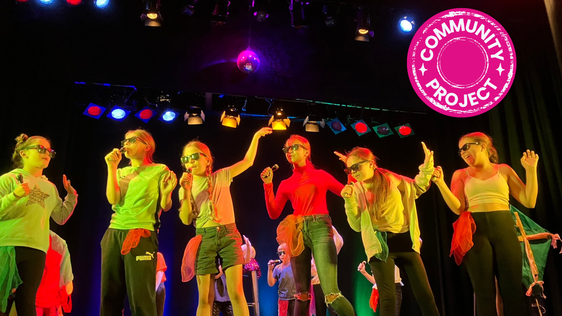
[[[299,135],[292,135],[283,152],[293,166],[293,175],[281,181],[277,194],[273,194],[273,171],[266,168],[261,173],[264,182],[267,212],[277,219],[290,201],[294,212],[277,227],[277,242],[287,244],[291,267],[295,277],[295,313],[308,315],[311,300],[311,256],[316,268],[325,302],[340,316],[355,315],[353,306],[341,294],[337,281],[337,253],[328,215],[326,192],[339,195],[343,185],[323,170],[315,169],[310,161],[310,143]]]

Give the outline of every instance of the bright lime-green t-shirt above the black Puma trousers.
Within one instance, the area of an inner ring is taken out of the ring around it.
[[[159,183],[168,172],[163,164],[117,169],[121,200],[112,207],[109,228],[154,231],[161,210]]]

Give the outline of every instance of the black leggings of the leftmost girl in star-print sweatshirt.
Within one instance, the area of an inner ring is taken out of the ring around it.
[[[47,256],[41,250],[15,247],[16,264],[23,283],[16,290],[15,303],[20,316],[36,316],[35,297],[37,289],[43,277],[45,269],[45,258]],[[8,311],[9,312],[9,311]]]

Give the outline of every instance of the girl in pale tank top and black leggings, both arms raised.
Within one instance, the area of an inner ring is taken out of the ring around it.
[[[509,211],[509,195],[525,207],[535,207],[539,155],[531,150],[523,152],[525,184],[510,166],[498,163],[498,153],[488,135],[464,135],[458,146],[459,156],[468,167],[455,171],[451,189],[441,167],[436,168],[433,178],[447,206],[460,215],[453,224],[451,254],[468,270],[478,315],[496,315],[495,278],[504,315],[528,315],[521,291],[521,245]]]

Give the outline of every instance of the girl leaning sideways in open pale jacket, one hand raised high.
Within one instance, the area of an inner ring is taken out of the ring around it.
[[[420,173],[414,178],[379,168],[375,155],[355,147],[343,159],[346,171],[357,182],[341,191],[351,228],[361,232],[365,253],[379,290],[381,316],[394,316],[396,287],[394,266],[408,275],[424,316],[439,315],[420,257],[420,229],[416,199],[427,191],[433,174],[433,152],[425,153]]]

